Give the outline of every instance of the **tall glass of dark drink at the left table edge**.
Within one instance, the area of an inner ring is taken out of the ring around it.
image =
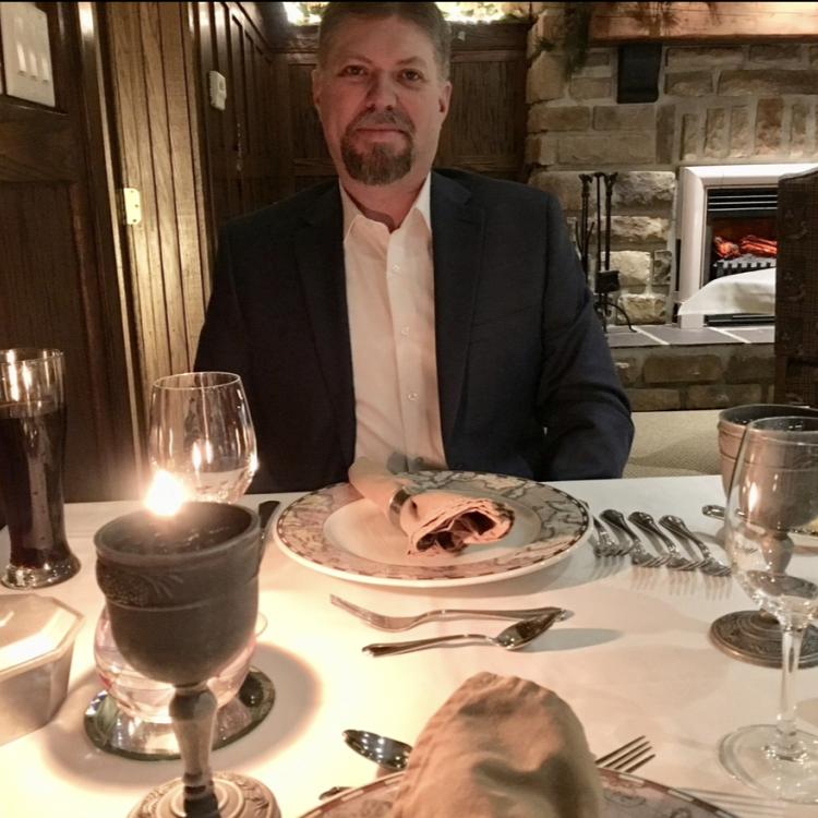
[[[0,500],[9,588],[44,588],[80,570],[63,521],[64,363],[58,349],[0,350]]]

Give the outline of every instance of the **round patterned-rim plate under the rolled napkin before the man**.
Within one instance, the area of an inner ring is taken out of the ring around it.
[[[274,539],[309,568],[359,582],[408,588],[494,582],[529,574],[566,556],[588,536],[582,503],[550,485],[476,471],[420,471],[406,477],[424,490],[489,497],[514,510],[496,542],[457,554],[409,554],[402,531],[349,483],[300,497],[281,512]]]

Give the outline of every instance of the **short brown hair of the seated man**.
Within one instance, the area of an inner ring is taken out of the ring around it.
[[[326,64],[333,38],[345,21],[358,17],[385,19],[400,17],[413,23],[432,41],[441,76],[448,80],[452,56],[452,35],[437,3],[394,2],[394,3],[344,3],[329,2],[321,15],[318,28],[318,68]]]

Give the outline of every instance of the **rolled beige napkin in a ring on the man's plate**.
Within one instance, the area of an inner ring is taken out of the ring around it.
[[[514,522],[510,508],[485,497],[437,490],[412,494],[416,489],[410,480],[395,477],[365,457],[349,467],[349,482],[404,530],[410,554],[456,552],[493,542],[505,537]],[[401,490],[409,495],[396,498]]]

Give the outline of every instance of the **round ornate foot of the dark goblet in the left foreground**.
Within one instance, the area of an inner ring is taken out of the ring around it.
[[[233,772],[213,775],[221,818],[281,818],[273,793],[261,781]],[[184,818],[184,787],[181,779],[152,790],[128,818]]]

